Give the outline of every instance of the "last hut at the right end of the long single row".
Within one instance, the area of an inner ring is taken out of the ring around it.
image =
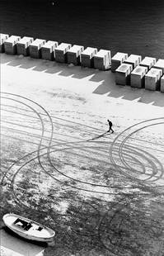
[[[109,69],[111,65],[110,50],[99,50],[93,57],[93,61],[95,69]]]

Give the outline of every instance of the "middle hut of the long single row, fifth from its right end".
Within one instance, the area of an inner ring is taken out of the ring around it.
[[[41,58],[47,60],[54,60],[54,49],[59,45],[56,41],[47,41],[45,45],[41,47]]]

